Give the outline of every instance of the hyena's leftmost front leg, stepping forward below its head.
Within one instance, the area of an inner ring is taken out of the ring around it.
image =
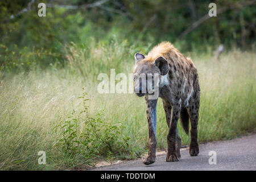
[[[155,162],[156,152],[156,104],[158,100],[149,100],[146,96],[147,103],[147,122],[148,122],[148,156],[144,159],[143,163],[146,165]]]

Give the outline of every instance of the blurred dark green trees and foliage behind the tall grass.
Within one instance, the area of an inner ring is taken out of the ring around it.
[[[40,2],[47,5],[46,17],[38,16]],[[208,16],[211,2],[222,11],[193,28]],[[63,67],[64,47],[71,42],[86,48],[94,46],[92,42],[125,40],[127,47],[142,49],[168,40],[182,52],[199,53],[220,44],[225,49],[252,49],[255,22],[255,1],[1,1],[0,67],[11,72],[52,64]]]

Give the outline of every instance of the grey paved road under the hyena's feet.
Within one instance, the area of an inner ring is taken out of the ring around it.
[[[209,151],[216,151],[217,164],[210,165]],[[188,148],[181,151],[179,162],[165,162],[166,154],[156,156],[156,162],[149,166],[142,159],[93,168],[92,170],[256,170],[256,134],[233,140],[210,142],[200,145],[199,156],[189,156]]]

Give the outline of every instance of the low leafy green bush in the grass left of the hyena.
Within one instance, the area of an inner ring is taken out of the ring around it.
[[[121,133],[121,129],[125,126],[122,126],[122,123],[106,122],[102,112],[97,114],[97,118],[90,117],[86,105],[89,99],[86,95],[84,92],[79,97],[82,99],[84,110],[78,113],[78,118],[75,115],[76,111],[73,110],[65,121],[56,126],[61,133],[57,146],[61,147],[68,158],[76,158],[79,155],[84,163],[89,165],[101,156],[115,158],[118,152],[119,155],[122,152],[129,152],[130,138]]]

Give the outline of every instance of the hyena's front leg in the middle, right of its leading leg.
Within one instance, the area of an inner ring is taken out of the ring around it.
[[[176,104],[172,107],[170,129],[167,135],[168,152],[166,156],[166,162],[179,161],[179,158],[180,158],[180,156],[177,154],[177,151],[176,151],[177,122],[179,120],[179,115],[180,115],[180,104]]]

